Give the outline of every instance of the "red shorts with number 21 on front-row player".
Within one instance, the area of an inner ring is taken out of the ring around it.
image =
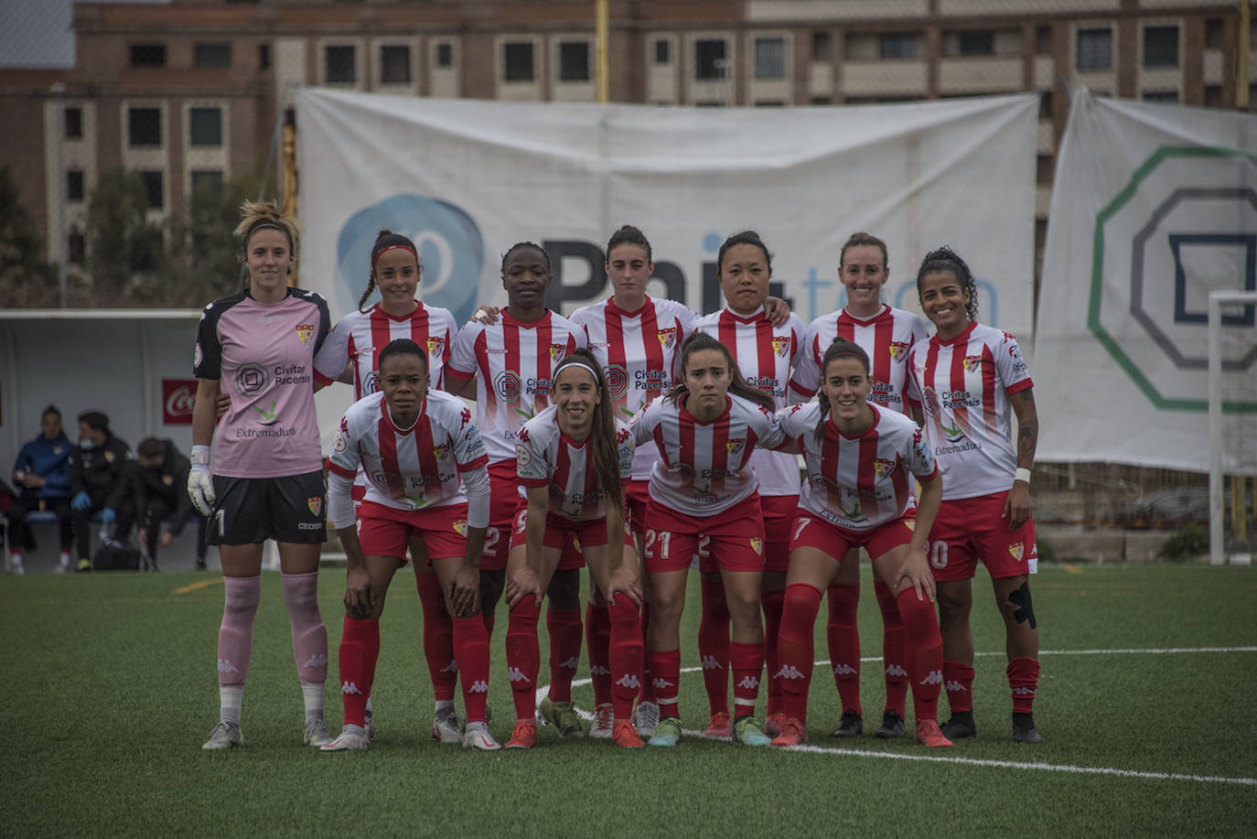
[[[758,493],[723,513],[701,517],[676,513],[651,498],[646,516],[649,572],[688,569],[695,555],[705,555],[713,571],[764,570],[764,520]]]

